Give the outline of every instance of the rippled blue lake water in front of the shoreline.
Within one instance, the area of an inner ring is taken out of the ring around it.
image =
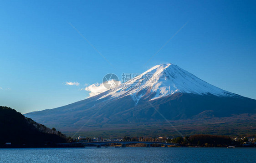
[[[256,163],[256,148],[0,149],[2,163]]]

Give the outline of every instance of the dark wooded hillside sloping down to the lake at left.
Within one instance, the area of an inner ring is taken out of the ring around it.
[[[1,106],[0,138],[0,148],[52,147],[55,143],[66,142],[61,132],[36,123],[10,107]],[[11,145],[5,145],[5,143],[11,143]]]

